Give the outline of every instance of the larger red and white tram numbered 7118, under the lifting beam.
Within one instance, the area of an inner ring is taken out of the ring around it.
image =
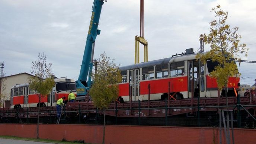
[[[193,49],[187,49],[185,54],[120,67],[119,100],[148,100],[149,89],[150,100],[217,97],[217,82],[209,76],[216,65],[211,60],[206,64],[196,60]],[[228,96],[234,96],[237,83],[239,74],[229,78]]]

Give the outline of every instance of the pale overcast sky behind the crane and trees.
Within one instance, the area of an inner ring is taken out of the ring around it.
[[[6,76],[30,73],[38,52],[45,52],[57,77],[78,79],[92,15],[93,0],[0,0],[0,62]],[[209,33],[211,8],[229,13],[227,24],[239,27],[249,48],[243,60],[256,61],[255,0],[145,0],[144,37],[148,59],[157,60],[199,49],[199,35]],[[101,30],[94,58],[104,51],[115,63],[134,64],[135,35],[140,35],[140,0],[108,0],[102,7]],[[140,45],[143,60],[143,45]],[[209,46],[205,45],[205,51]],[[254,84],[256,64],[241,63],[242,84]]]

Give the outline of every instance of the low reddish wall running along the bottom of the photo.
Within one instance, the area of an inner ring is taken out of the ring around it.
[[[39,138],[102,143],[102,125],[40,124]],[[36,124],[0,124],[0,135],[36,138]],[[230,131],[231,135],[231,131]],[[236,144],[255,144],[256,129],[234,129]],[[218,144],[218,128],[107,125],[106,144]],[[224,131],[222,143],[225,144]],[[231,138],[232,139],[232,138]]]

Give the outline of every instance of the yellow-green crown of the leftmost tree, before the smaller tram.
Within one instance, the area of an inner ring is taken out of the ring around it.
[[[32,62],[31,74],[35,77],[28,79],[30,89],[35,90],[39,96],[39,100],[42,96],[47,96],[52,87],[54,86],[54,79],[51,77],[51,63],[47,64],[47,57],[44,54],[38,53],[38,60]]]

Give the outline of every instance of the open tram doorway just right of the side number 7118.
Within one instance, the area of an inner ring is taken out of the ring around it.
[[[199,82],[199,61],[188,61],[188,97],[198,97],[200,95],[200,82]]]

